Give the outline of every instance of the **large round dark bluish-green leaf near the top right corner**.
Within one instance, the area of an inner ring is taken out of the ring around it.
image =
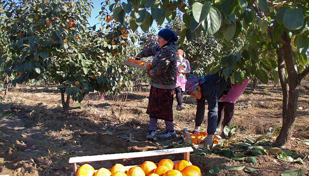
[[[303,11],[297,8],[286,9],[283,15],[283,24],[287,29],[290,30],[297,30],[303,27]]]

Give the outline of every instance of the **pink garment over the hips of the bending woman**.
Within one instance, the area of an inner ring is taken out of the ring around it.
[[[243,93],[243,91],[246,89],[248,85],[248,79],[243,79],[243,84],[233,84],[232,88],[227,92],[226,95],[223,94],[223,96],[218,101],[224,101],[224,102],[230,102],[235,103],[238,97]],[[177,86],[176,86],[177,87]]]

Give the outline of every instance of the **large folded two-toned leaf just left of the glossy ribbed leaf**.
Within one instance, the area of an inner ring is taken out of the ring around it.
[[[195,21],[201,23],[209,14],[211,8],[211,2],[208,1],[206,4],[202,4],[200,2],[194,2],[192,6],[193,17]]]

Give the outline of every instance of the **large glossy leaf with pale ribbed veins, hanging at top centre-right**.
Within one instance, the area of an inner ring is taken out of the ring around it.
[[[221,25],[220,11],[215,7],[211,7],[210,12],[207,15],[205,21],[202,22],[202,27],[211,35],[214,35],[219,30],[220,25]]]

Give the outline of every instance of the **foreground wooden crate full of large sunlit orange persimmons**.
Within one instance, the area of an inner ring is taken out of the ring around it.
[[[152,150],[144,152],[117,153],[107,155],[83,156],[70,158],[69,163],[73,163],[73,172],[71,176],[200,176],[201,170],[197,166],[193,166],[189,160],[192,147]],[[104,161],[123,158],[140,158],[148,156],[167,155],[174,153],[184,153],[184,160],[172,161],[170,159],[162,159],[159,163],[145,161],[137,166],[123,166],[115,164],[111,169],[99,168],[95,170],[87,162]],[[76,163],[85,163],[77,169]]]

